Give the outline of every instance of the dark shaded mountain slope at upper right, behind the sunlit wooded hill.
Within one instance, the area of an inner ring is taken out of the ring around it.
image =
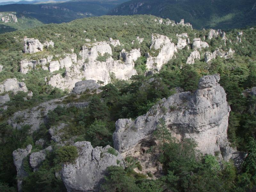
[[[240,28],[256,24],[255,0],[132,0],[109,15],[151,14],[171,20],[185,19],[194,28]]]

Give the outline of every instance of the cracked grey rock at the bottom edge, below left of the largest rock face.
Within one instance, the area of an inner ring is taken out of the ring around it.
[[[78,158],[75,164],[64,164],[61,170],[63,180],[68,192],[99,191],[104,179],[106,169],[111,165],[123,165],[122,156],[110,154],[109,145],[93,148],[90,142],[76,142]]]

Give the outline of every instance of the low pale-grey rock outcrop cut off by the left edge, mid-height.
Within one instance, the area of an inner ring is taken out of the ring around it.
[[[0,94],[9,91],[17,94],[19,91],[28,92],[28,88],[24,82],[18,82],[16,78],[12,78],[6,79],[3,84],[0,84]]]

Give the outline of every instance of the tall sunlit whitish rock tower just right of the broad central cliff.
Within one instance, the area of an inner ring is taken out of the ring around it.
[[[156,57],[152,57],[149,54],[147,57],[147,68],[149,70],[159,71],[164,64],[172,59],[175,52],[177,52],[176,45],[171,42],[167,36],[152,34],[151,36],[152,44],[150,46],[151,50],[160,50]]]

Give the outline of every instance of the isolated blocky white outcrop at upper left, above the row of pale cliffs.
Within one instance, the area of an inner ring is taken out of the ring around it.
[[[43,45],[38,39],[34,38],[24,38],[24,52],[25,53],[36,53],[43,51]]]

